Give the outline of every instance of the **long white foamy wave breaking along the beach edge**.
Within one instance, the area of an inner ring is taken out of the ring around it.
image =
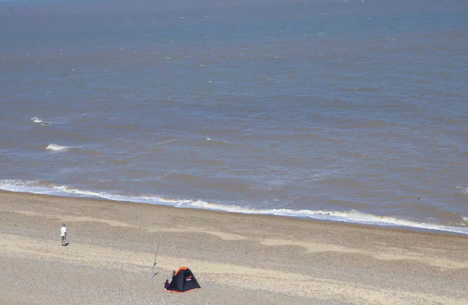
[[[256,209],[239,205],[228,205],[220,203],[209,203],[203,200],[171,199],[161,196],[125,196],[107,192],[94,192],[88,190],[75,189],[69,186],[56,185],[53,183],[44,185],[40,181],[21,181],[11,179],[1,179],[0,189],[14,192],[28,192],[36,194],[48,194],[56,196],[80,196],[97,197],[110,200],[166,204],[183,208],[201,208],[216,211],[227,211],[247,214],[270,214],[278,216],[291,216],[300,218],[314,218],[320,220],[343,221],[365,225],[385,225],[401,226],[408,228],[438,230],[446,232],[456,232],[468,234],[468,227],[458,227],[450,225],[439,225],[419,222],[411,219],[395,218],[391,216],[378,216],[370,213],[363,213],[356,210],[351,211],[320,211],[320,210],[291,210],[291,209]],[[462,217],[462,222],[467,222],[468,217]],[[465,224],[461,224],[465,225]]]

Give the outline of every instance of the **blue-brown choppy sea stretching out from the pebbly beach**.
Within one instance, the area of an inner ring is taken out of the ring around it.
[[[236,3],[2,0],[0,189],[468,234],[467,1]]]

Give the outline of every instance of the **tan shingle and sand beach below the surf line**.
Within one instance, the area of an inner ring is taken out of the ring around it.
[[[0,192],[0,304],[460,305],[467,249],[465,235]],[[202,289],[164,291],[181,266]]]

